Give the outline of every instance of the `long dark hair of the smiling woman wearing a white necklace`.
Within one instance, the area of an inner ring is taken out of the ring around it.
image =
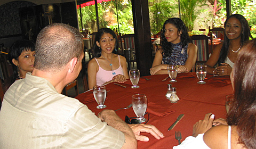
[[[227,21],[230,19],[230,18],[236,18],[237,20],[240,21],[241,23],[241,27],[242,27],[242,35],[241,35],[241,45],[243,46],[244,42],[246,42],[247,40],[249,40],[249,37],[252,38],[252,35],[250,33],[250,27],[248,25],[248,22],[247,20],[244,18],[243,15],[241,14],[233,14],[233,15],[230,15],[228,17],[228,19],[225,21],[224,23],[224,26],[225,26],[225,29],[226,29],[226,24],[227,24]],[[220,51],[220,57],[219,57],[219,60],[218,60],[218,64],[220,65],[220,63],[224,63],[227,59],[227,56],[228,56],[228,48],[229,48],[229,39],[224,31],[224,44],[221,48],[221,51]]]

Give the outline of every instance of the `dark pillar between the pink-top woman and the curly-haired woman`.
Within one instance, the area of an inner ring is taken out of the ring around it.
[[[148,0],[132,0],[132,13],[137,68],[141,76],[148,76],[153,63]]]

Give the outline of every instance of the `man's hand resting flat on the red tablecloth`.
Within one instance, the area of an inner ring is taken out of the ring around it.
[[[153,125],[145,125],[145,124],[130,124],[129,125],[136,137],[137,140],[148,142],[149,138],[146,136],[141,136],[140,133],[150,133],[156,139],[163,138],[164,135]]]

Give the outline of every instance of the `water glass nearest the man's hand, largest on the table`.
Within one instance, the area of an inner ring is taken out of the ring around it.
[[[147,97],[144,94],[132,95],[132,109],[137,115],[137,120],[140,123],[145,122],[147,119],[144,118],[144,114],[147,109]]]

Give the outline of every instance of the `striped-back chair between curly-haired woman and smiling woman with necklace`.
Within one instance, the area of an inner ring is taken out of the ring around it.
[[[195,44],[198,49],[196,63],[205,63],[209,59],[209,44],[208,43],[211,38],[206,35],[193,35],[190,38],[191,38],[193,44]],[[212,43],[212,40],[211,40],[211,43]]]

